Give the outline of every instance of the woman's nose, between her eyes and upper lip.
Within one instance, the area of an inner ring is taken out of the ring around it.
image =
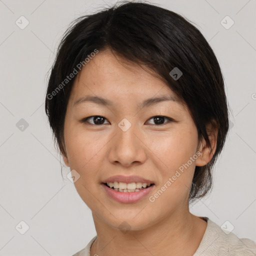
[[[143,143],[142,134],[135,125],[126,128],[121,125],[116,127],[108,159],[113,164],[119,163],[125,167],[142,164],[146,160],[146,145]]]

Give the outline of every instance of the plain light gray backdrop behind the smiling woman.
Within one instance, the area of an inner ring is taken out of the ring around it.
[[[0,0],[0,255],[72,255],[96,235],[90,209],[65,177],[67,167],[62,180],[43,101],[46,73],[69,22],[113,2]],[[228,220],[238,237],[255,240],[256,1],[154,3],[184,15],[203,33],[219,60],[230,105],[232,128],[213,190],[191,211],[220,226]],[[21,15],[29,21],[24,29],[15,23],[25,24]],[[234,21],[228,29],[220,23],[226,15]],[[21,220],[29,226],[24,234]]]

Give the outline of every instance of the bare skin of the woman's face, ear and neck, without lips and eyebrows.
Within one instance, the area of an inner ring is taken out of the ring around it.
[[[80,177],[75,188],[92,211],[97,232],[90,255],[192,255],[203,237],[206,221],[188,209],[189,187],[195,165],[210,161],[212,153],[205,141],[198,141],[196,126],[186,106],[177,101],[161,101],[137,108],[144,99],[175,95],[160,79],[135,63],[99,51],[77,76],[67,105],[64,122],[63,160]],[[98,95],[113,106],[74,102],[85,95]],[[105,119],[95,124],[93,117]],[[153,116],[167,116],[157,124]],[[126,118],[125,132],[118,123]],[[208,127],[210,128],[210,127]],[[212,152],[216,136],[210,137]],[[154,202],[153,195],[189,157],[201,151],[192,164]],[[155,184],[148,196],[134,203],[110,198],[100,183],[112,175],[139,175]],[[130,225],[123,233],[118,226]]]

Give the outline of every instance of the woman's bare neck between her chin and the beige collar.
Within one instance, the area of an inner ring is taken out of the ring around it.
[[[145,229],[131,228],[127,232],[110,226],[92,212],[97,238],[90,255],[193,255],[207,223],[191,214],[188,208],[181,212],[174,212]]]

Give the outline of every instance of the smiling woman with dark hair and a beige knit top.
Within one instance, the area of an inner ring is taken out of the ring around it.
[[[128,2],[75,20],[45,110],[97,235],[78,255],[254,255],[189,202],[211,187],[228,132],[218,61],[191,23]]]

